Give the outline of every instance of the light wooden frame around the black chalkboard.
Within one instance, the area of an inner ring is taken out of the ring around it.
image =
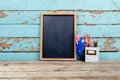
[[[76,14],[73,12],[46,12],[46,13],[42,13],[41,14],[41,32],[40,32],[40,60],[76,60],[76,43],[75,43],[75,35],[74,35],[74,42],[73,42],[73,46],[74,46],[74,51],[73,51],[73,57],[71,58],[46,58],[43,57],[43,38],[44,38],[44,16],[73,16],[74,18],[74,24],[73,24],[73,35],[76,32]],[[48,53],[49,54],[49,53]]]

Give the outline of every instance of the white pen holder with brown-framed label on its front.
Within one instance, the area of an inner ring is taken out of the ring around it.
[[[85,62],[99,62],[99,47],[85,48]]]

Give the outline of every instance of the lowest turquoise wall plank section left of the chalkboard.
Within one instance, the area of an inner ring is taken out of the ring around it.
[[[1,61],[23,61],[23,60],[40,60],[40,54],[39,52],[5,52],[0,53],[0,60]]]

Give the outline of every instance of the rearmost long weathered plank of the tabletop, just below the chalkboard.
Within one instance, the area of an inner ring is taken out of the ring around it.
[[[19,63],[19,62],[18,62]],[[57,64],[54,63],[33,63],[33,64],[13,64],[13,63],[7,63],[7,64],[1,64],[0,65],[0,72],[48,72],[48,71],[119,71],[120,70],[120,65],[113,66],[117,63],[113,64],[105,64],[99,62],[99,64],[86,64],[86,63],[81,63],[81,62],[56,62]],[[72,65],[71,65],[72,64]],[[102,64],[102,65],[100,65]],[[49,66],[48,66],[49,65]],[[109,66],[108,66],[109,65]],[[14,67],[13,67],[14,66]],[[29,67],[28,67],[29,66]],[[68,67],[69,66],[69,67]],[[11,71],[12,70],[12,71]]]

